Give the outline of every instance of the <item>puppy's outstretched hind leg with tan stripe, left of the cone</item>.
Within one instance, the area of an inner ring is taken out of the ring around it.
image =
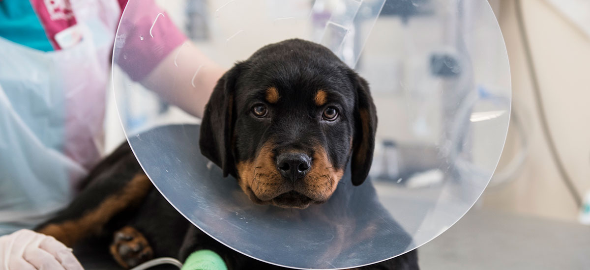
[[[36,231],[73,246],[97,235],[118,213],[135,208],[153,188],[127,143],[97,165],[85,182],[73,202]]]

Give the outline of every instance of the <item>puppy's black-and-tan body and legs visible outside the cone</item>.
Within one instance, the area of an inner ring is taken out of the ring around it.
[[[148,183],[149,189],[143,195],[132,194],[132,197],[139,196],[136,203],[126,205],[117,213],[113,213],[109,206],[104,206],[109,198],[120,195],[120,190],[128,190],[126,187],[133,186],[132,179],[137,174],[143,172],[129,145],[124,143],[90,173],[86,187],[70,206],[40,225],[37,231],[54,236],[68,246],[75,246],[91,236],[112,239],[111,245],[104,246],[103,250],[110,252],[124,268],[159,256],[171,256],[183,261],[194,251],[211,249],[222,256],[229,269],[286,269],[251,259],[215,241],[173,209],[158,190],[150,186],[151,183]],[[94,220],[97,223],[91,226],[90,223],[68,226],[68,223],[77,223],[93,213],[100,213],[104,222]],[[126,227],[134,228],[140,235],[126,232],[123,229]],[[117,238],[117,232],[126,235]],[[126,240],[127,237],[132,239]],[[133,251],[137,243],[142,241],[148,245]],[[114,253],[111,251],[113,247],[116,249]],[[149,256],[142,257],[143,252],[149,250]],[[417,255],[412,251],[362,269],[418,269]]]

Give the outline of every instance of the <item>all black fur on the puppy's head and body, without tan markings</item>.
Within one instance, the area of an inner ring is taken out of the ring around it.
[[[251,117],[250,110],[254,103],[264,102],[268,87],[276,87],[281,97],[276,104],[268,104],[273,120],[260,121]],[[318,89],[329,93],[326,106],[339,108],[337,121],[320,123],[318,116],[325,106],[319,108],[304,101]],[[362,132],[362,121],[366,119],[361,119],[360,110],[370,116],[366,123],[369,133]],[[366,81],[321,45],[291,39],[262,48],[219,80],[207,104],[200,146],[225,176],[236,176],[235,163],[251,159],[264,141],[281,138],[277,143],[280,150],[287,145],[307,149],[309,140],[315,140],[325,147],[336,167],[344,168],[350,156],[363,157],[358,159],[362,163],[355,163],[353,158],[351,167],[352,182],[360,185],[371,165],[375,129],[375,106]],[[362,143],[367,147],[360,152]],[[124,143],[90,172],[84,181],[86,187],[70,206],[39,228],[80,218],[107,196],[120,192],[138,172],[139,163]],[[183,261],[194,251],[211,249],[224,258],[229,269],[283,269],[241,255],[199,231],[153,187],[141,203],[129,205],[93,236],[112,238],[113,232],[123,226],[142,232],[155,256]],[[412,251],[362,269],[418,269],[417,253]]]

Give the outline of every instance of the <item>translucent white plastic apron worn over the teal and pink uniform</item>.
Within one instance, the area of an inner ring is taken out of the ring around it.
[[[116,0],[70,0],[82,40],[42,52],[0,38],[0,235],[63,208],[100,157]]]

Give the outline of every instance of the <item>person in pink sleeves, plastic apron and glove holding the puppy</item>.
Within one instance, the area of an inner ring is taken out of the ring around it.
[[[225,71],[153,0],[142,0],[142,12],[124,17],[120,24],[130,32],[116,37],[126,4],[0,0],[0,269],[81,269],[70,249],[27,229],[64,208],[104,154],[116,38],[126,61],[115,64],[197,117]],[[181,49],[190,57],[175,59]],[[142,58],[149,61],[134,65]],[[174,77],[171,63],[179,67]]]

